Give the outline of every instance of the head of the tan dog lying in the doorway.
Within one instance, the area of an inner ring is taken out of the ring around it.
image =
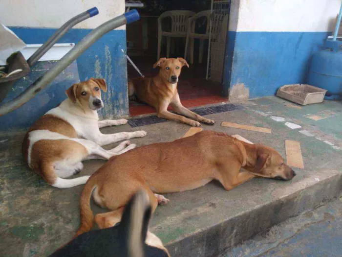
[[[160,58],[158,62],[153,65],[153,68],[160,67],[159,75],[171,84],[178,82],[178,77],[183,66],[189,68],[189,64],[183,58]]]

